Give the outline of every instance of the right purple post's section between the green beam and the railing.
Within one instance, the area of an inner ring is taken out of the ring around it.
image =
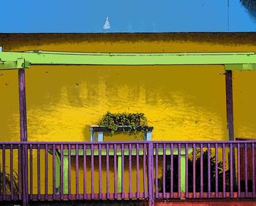
[[[225,77],[226,77],[226,106],[227,106],[228,137],[229,137],[229,140],[234,140],[232,71],[227,70]]]

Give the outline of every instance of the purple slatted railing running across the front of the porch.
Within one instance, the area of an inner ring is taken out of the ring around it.
[[[255,145],[0,142],[0,200],[255,198]]]

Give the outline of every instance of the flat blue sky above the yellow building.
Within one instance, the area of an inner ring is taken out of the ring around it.
[[[239,0],[4,0],[1,16],[1,33],[256,31]]]

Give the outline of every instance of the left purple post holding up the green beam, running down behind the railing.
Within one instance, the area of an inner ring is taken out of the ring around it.
[[[21,64],[24,59],[19,60]],[[19,104],[20,104],[20,142],[27,142],[27,128],[26,128],[26,91],[25,91],[25,70],[18,70],[18,83],[19,83]],[[23,193],[23,205],[29,205],[28,197],[28,156],[26,145],[22,145],[22,193]],[[21,161],[19,161],[21,164]]]

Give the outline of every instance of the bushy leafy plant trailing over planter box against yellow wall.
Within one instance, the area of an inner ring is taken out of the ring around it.
[[[110,135],[115,134],[118,127],[121,126],[126,134],[136,133],[137,131],[147,131],[147,118],[143,113],[111,113],[107,112],[99,123],[99,126],[104,126],[110,130]]]

